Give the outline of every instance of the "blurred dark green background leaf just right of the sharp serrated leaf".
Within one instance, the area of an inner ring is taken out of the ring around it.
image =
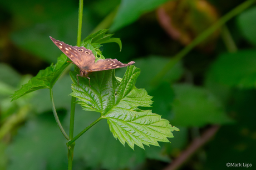
[[[221,102],[208,90],[186,84],[174,85],[173,120],[180,126],[224,124],[232,120],[225,114]]]

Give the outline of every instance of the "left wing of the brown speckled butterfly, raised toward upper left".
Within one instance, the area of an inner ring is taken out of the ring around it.
[[[57,45],[60,50],[68,56],[68,58],[73,61],[80,69],[88,69],[92,63],[95,62],[95,56],[92,54],[92,51],[84,47],[77,47],[68,45],[64,42],[56,40],[50,37],[52,42]]]

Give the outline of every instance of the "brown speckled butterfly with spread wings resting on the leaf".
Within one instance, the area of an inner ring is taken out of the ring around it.
[[[89,79],[90,85],[90,78],[88,75],[94,71],[102,71],[102,70],[110,70],[110,69],[117,69],[123,68],[128,65],[132,65],[135,62],[130,61],[128,64],[121,63],[117,59],[100,59],[97,60],[95,63],[95,56],[92,54],[92,51],[86,49],[85,47],[77,47],[68,45],[60,40],[56,40],[50,36],[51,40],[57,47],[67,55],[68,58],[73,61],[74,64],[80,68],[80,74],[76,75],[77,78],[77,85],[78,85],[78,76],[86,77]],[[91,85],[90,85],[91,86]]]

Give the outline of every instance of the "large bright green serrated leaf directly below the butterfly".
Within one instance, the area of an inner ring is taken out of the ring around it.
[[[149,107],[151,96],[144,89],[134,85],[140,74],[135,66],[127,67],[124,78],[117,81],[114,70],[97,71],[90,78],[80,78],[77,85],[76,72],[71,72],[72,96],[77,97],[77,103],[83,110],[101,113],[102,119],[107,119],[110,131],[124,145],[125,142],[134,149],[134,144],[144,148],[144,145],[159,146],[157,141],[169,142],[167,137],[178,128],[172,127],[168,120],[160,115],[152,114],[151,110],[137,109],[139,106]]]

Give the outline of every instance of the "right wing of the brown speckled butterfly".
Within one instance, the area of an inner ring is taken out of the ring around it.
[[[110,69],[117,69],[117,68],[123,68],[125,66],[134,64],[134,61],[130,61],[128,64],[121,63],[117,59],[101,59],[98,60],[97,63],[93,63],[91,66],[91,69],[88,71],[101,71],[101,70],[110,70]]]

